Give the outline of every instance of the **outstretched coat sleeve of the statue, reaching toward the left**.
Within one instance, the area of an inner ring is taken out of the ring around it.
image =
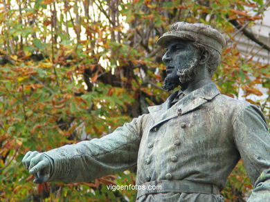
[[[100,139],[44,152],[53,168],[48,181],[91,181],[132,168],[137,163],[146,117],[147,114],[143,114]]]

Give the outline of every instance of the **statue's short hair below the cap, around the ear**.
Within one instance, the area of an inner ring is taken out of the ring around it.
[[[210,54],[210,57],[206,63],[207,68],[209,70],[210,76],[213,77],[213,74],[215,73],[215,70],[217,70],[217,66],[221,63],[222,57],[217,52],[217,50],[210,48],[208,46],[205,46],[200,43],[193,43],[193,46],[195,46],[199,50],[199,54],[203,53],[204,51],[207,51]]]

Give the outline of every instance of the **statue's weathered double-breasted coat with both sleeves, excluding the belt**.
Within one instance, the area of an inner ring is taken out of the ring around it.
[[[270,136],[262,112],[220,94],[214,83],[148,108],[101,139],[44,152],[50,181],[90,181],[137,165],[136,185],[190,181],[222,190],[242,159],[253,184],[249,201],[270,201]],[[138,193],[137,201],[222,201],[217,193],[167,190]]]

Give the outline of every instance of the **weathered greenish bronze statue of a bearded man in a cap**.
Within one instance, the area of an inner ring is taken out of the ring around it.
[[[222,34],[177,22],[157,43],[167,48],[164,88],[181,90],[101,139],[28,152],[23,163],[34,182],[91,181],[137,165],[136,185],[146,185],[137,201],[223,201],[219,191],[242,159],[253,184],[249,201],[270,201],[264,116],[255,105],[220,94],[211,81],[225,46]]]

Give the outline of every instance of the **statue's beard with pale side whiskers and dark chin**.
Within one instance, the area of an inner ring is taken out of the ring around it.
[[[198,72],[199,65],[197,59],[192,59],[190,63],[184,66],[177,66],[177,70],[174,70],[172,73],[168,74],[164,79],[163,89],[166,91],[174,90],[179,85],[192,81],[195,78],[196,73]]]

